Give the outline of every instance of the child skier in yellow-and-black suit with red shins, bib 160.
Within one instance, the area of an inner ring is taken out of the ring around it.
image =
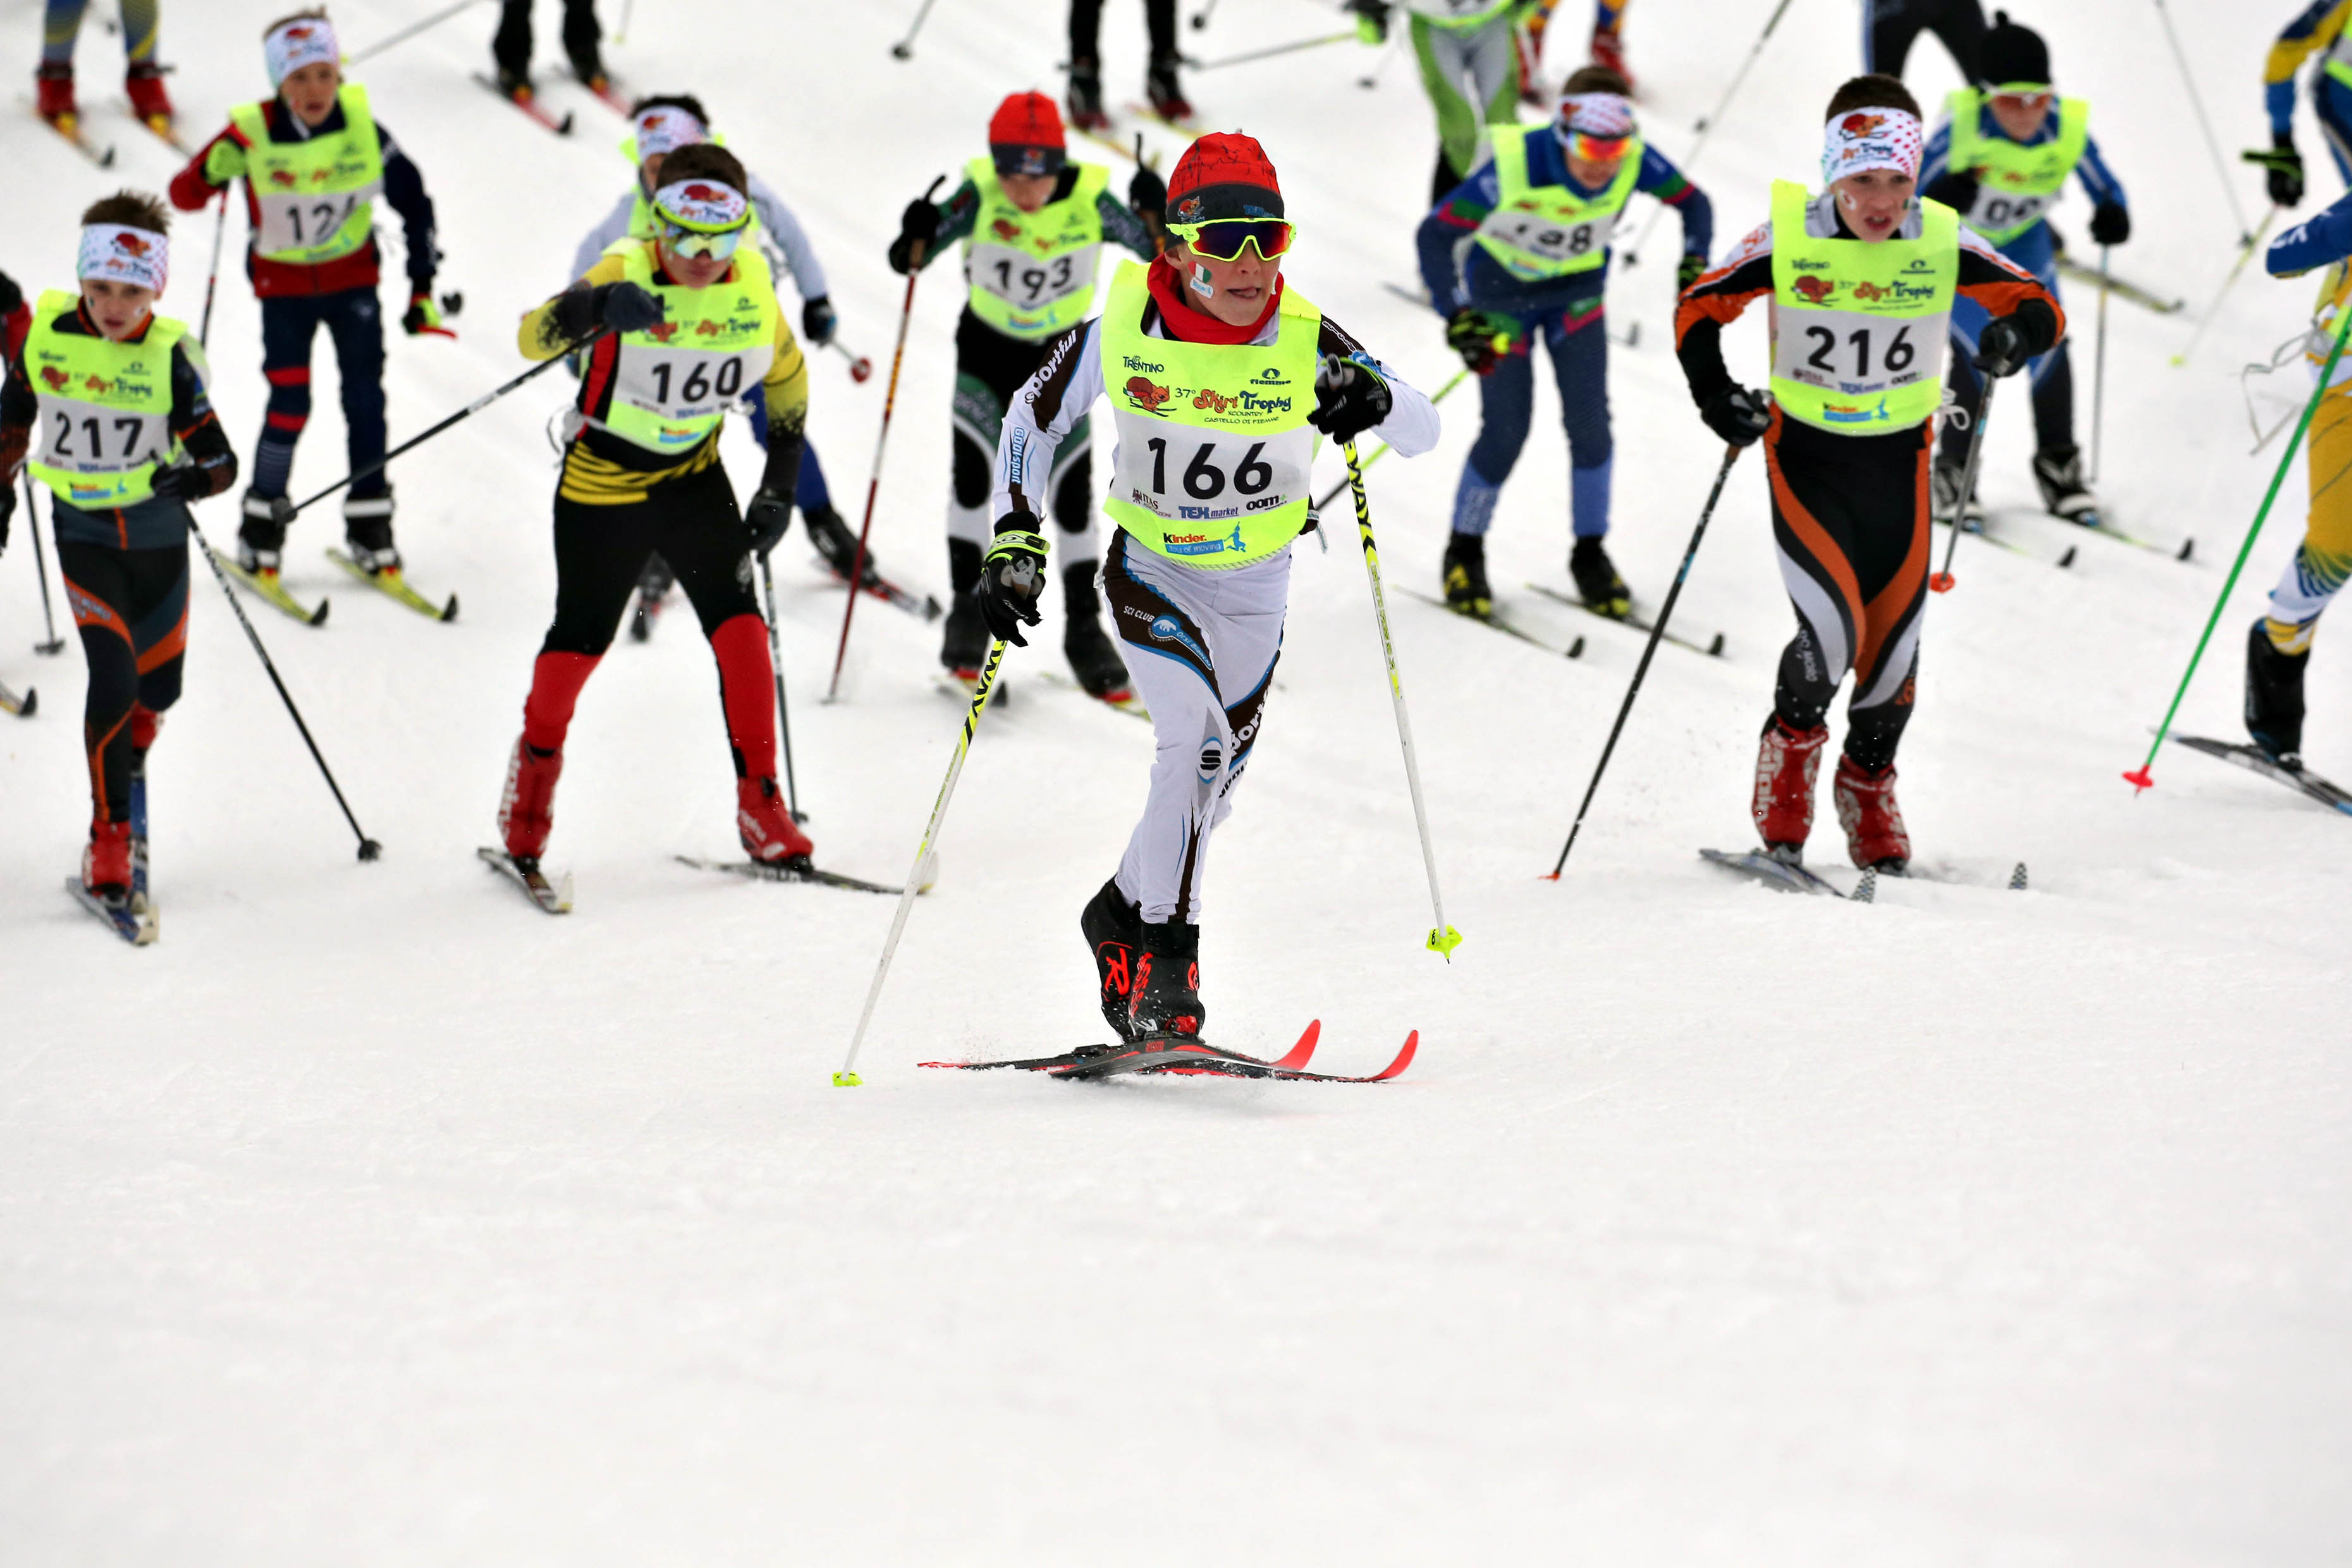
[[[715,143],[677,148],[654,190],[654,235],[604,252],[522,317],[527,360],[588,348],[555,487],[555,621],[506,769],[506,853],[536,867],[553,827],[572,705],[661,552],[710,637],[736,773],[736,830],[753,860],[809,853],[776,788],[776,686],[753,552],[793,522],[809,371],[750,233],[750,179]],[[750,515],[720,465],[727,404],[767,395],[767,468]]]

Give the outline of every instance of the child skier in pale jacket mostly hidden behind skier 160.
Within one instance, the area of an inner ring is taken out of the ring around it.
[[[619,240],[649,240],[654,235],[654,190],[661,188],[663,160],[677,148],[703,141],[710,141],[710,113],[694,94],[637,99],[630,110],[630,134],[621,141],[621,153],[637,165],[637,183],[579,242],[579,249],[572,254],[574,277],[586,277],[588,268],[604,254],[604,247]],[[783,266],[793,273],[793,287],[800,289],[800,341],[823,348],[833,341],[837,317],[833,292],[826,287],[826,268],[816,261],[816,247],[809,244],[809,235],[800,228],[793,209],[783,205],[783,197],[760,181],[760,176],[753,174],[748,179],[750,188],[746,195],[753,209],[753,240],[762,252],[767,252],[769,240],[783,252]],[[774,254],[769,254],[769,268],[774,268]],[[753,388],[743,393],[743,402],[750,409],[753,437],[767,447],[767,397]],[[795,503],[809,524],[809,543],[826,557],[835,576],[849,581],[858,555],[858,536],[833,510],[826,470],[816,461],[816,447],[807,440],[800,447]],[[880,581],[870,559],[866,562],[866,578],[868,583]],[[659,557],[647,562],[644,581],[640,583],[640,623],[652,607],[661,604],[673,581],[666,562]]]

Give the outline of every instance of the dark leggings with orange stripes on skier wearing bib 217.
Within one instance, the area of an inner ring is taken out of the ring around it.
[[[179,701],[188,646],[188,541],[162,550],[108,550],[56,541],[73,625],[89,661],[82,703],[82,750],[89,757],[89,806],[101,823],[132,813],[132,736]]]

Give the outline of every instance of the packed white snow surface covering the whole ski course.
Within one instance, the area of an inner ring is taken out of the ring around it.
[[[165,7],[191,134],[266,92],[280,0]],[[426,14],[341,0],[346,47]],[[619,7],[607,9],[607,28]],[[2265,143],[2258,66],[2284,9],[2178,5],[2223,146]],[[9,7],[28,66],[33,12]],[[856,522],[903,282],[898,207],[983,150],[1011,89],[1058,92],[1061,7],[640,0],[609,59],[694,89],[797,209],[842,339],[811,435]],[[1110,5],[1105,89],[1136,96],[1141,7]],[[1646,129],[1691,146],[1766,7],[1642,0]],[[188,693],[153,757],[162,940],[129,950],[59,891],[87,823],[78,651],[38,661],[24,515],[0,569],[0,1559],[21,1563],[2319,1563],[2352,1554],[2352,1147],[2345,910],[2352,823],[2185,750],[2119,780],[2164,715],[2277,463],[2249,456],[2237,367],[2293,334],[2310,284],[2253,268],[2194,362],[2234,226],[2157,14],[2020,12],[2131,188],[2100,489],[2119,524],[2197,538],[2176,564],[2039,515],[2020,383],[1985,463],[1994,527],[1929,607],[1903,809],[1926,867],[1875,907],[1785,898],[1696,858],[1748,846],[1748,776],[1790,611],[1762,463],[1731,475],[1562,882],[1541,882],[1642,642],[1522,585],[1564,585],[1566,461],[1536,435],[1491,562],[1566,663],[1390,595],[1446,917],[1421,875],[1364,567],[1303,541],[1265,731],[1218,835],[1211,1034],[1395,1084],[1077,1086],[927,1072],[1103,1037],[1077,910],[1141,804],[1145,726],[1058,691],[1058,607],[1009,661],[964,771],[943,875],[866,1044],[830,1086],[889,926],[882,898],[682,867],[734,851],[710,656],[675,609],[619,642],[572,729],[555,870],[534,912],[473,849],[553,602],[532,383],[395,465],[433,625],[343,578],[332,505],[289,583],[306,630],[249,604],[367,832],[353,842],[198,569]],[[515,315],[567,280],[626,188],[623,125],[548,136],[468,80],[489,7],[362,68],[440,205],[459,341],[390,341],[400,440],[496,386]],[[1185,31],[1204,56],[1343,26],[1251,0]],[[1555,66],[1585,16],[1559,7]],[[118,106],[113,40],[80,66],[96,174],[19,106],[0,132],[0,266],[66,287],[73,219],[160,188],[169,148]],[[1374,89],[1357,78],[1378,68]],[[1799,0],[1693,174],[1717,249],[1766,179],[1813,176],[1856,12]],[[1952,82],[1922,40],[1924,99]],[[1345,45],[1188,85],[1261,136],[1301,226],[1296,284],[1425,388],[1456,362],[1411,280],[1430,113],[1409,59]],[[2307,110],[2305,110],[2307,115]],[[1131,136],[1122,115],[1117,136]],[[1148,148],[1174,139],[1143,127]],[[2336,193],[2305,118],[2312,205]],[[1087,158],[1112,160],[1077,141]],[[1115,162],[1115,160],[1112,160]],[[1124,186],[1127,165],[1115,179]],[[2232,162],[2241,202],[2256,174]],[[1646,202],[1642,202],[1646,207]],[[2310,212],[2310,207],[2305,209]],[[2086,244],[2079,190],[2058,212]],[[1637,209],[1635,221],[1642,219]],[[242,228],[235,223],[233,228]],[[202,308],[209,219],[183,216],[167,308]],[[1663,597],[1722,447],[1670,336],[1672,221],[1611,289],[1611,548]],[[390,226],[397,268],[397,226]],[[238,233],[230,235],[230,252]],[[254,301],[223,270],[221,414],[261,421]],[[397,284],[388,280],[390,289]],[[2096,301],[2072,287],[2089,435]],[[797,301],[788,294],[788,306]],[[882,564],[946,592],[941,515],[960,280],[915,294],[882,475]],[[1759,317],[1762,313],[1757,313]],[[1762,378],[1762,322],[1729,339]],[[296,494],[341,477],[325,341]],[[2258,378],[2263,418],[2300,395]],[[1437,588],[1475,393],[1371,508],[1390,585]],[[2284,437],[2281,437],[2284,440]],[[748,496],[757,454],[731,430]],[[1105,451],[1096,456],[1103,473]],[[1324,454],[1324,484],[1338,477]],[[2237,736],[2244,628],[2293,550],[2296,461],[2180,722]],[[226,543],[233,501],[200,510]],[[2079,543],[2072,569],[2051,567]],[[1938,534],[1940,548],[1940,534]],[[953,750],[936,628],[863,604],[818,703],[842,595],[779,552],[793,741],[826,865],[898,879]],[[54,562],[52,562],[54,571]],[[2343,628],[2312,665],[2310,762],[2352,778]],[[1842,722],[1832,719],[1832,724]],[[1823,788],[1823,792],[1828,792]],[[1828,804],[1813,863],[1842,870]],[[2032,891],[2002,891],[2013,860]]]

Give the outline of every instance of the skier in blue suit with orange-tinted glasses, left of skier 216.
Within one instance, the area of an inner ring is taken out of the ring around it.
[[[1479,435],[1454,491],[1439,567],[1446,604],[1484,618],[1486,529],[1526,444],[1536,407],[1536,339],[1552,357],[1569,433],[1569,574],[1604,616],[1632,611],[1609,562],[1609,235],[1642,190],[1682,214],[1679,282],[1708,266],[1715,216],[1635,129],[1625,78],[1585,66],[1566,80],[1550,125],[1498,127],[1477,172],[1421,221],[1421,280],[1446,317],[1446,343],[1479,374]]]

